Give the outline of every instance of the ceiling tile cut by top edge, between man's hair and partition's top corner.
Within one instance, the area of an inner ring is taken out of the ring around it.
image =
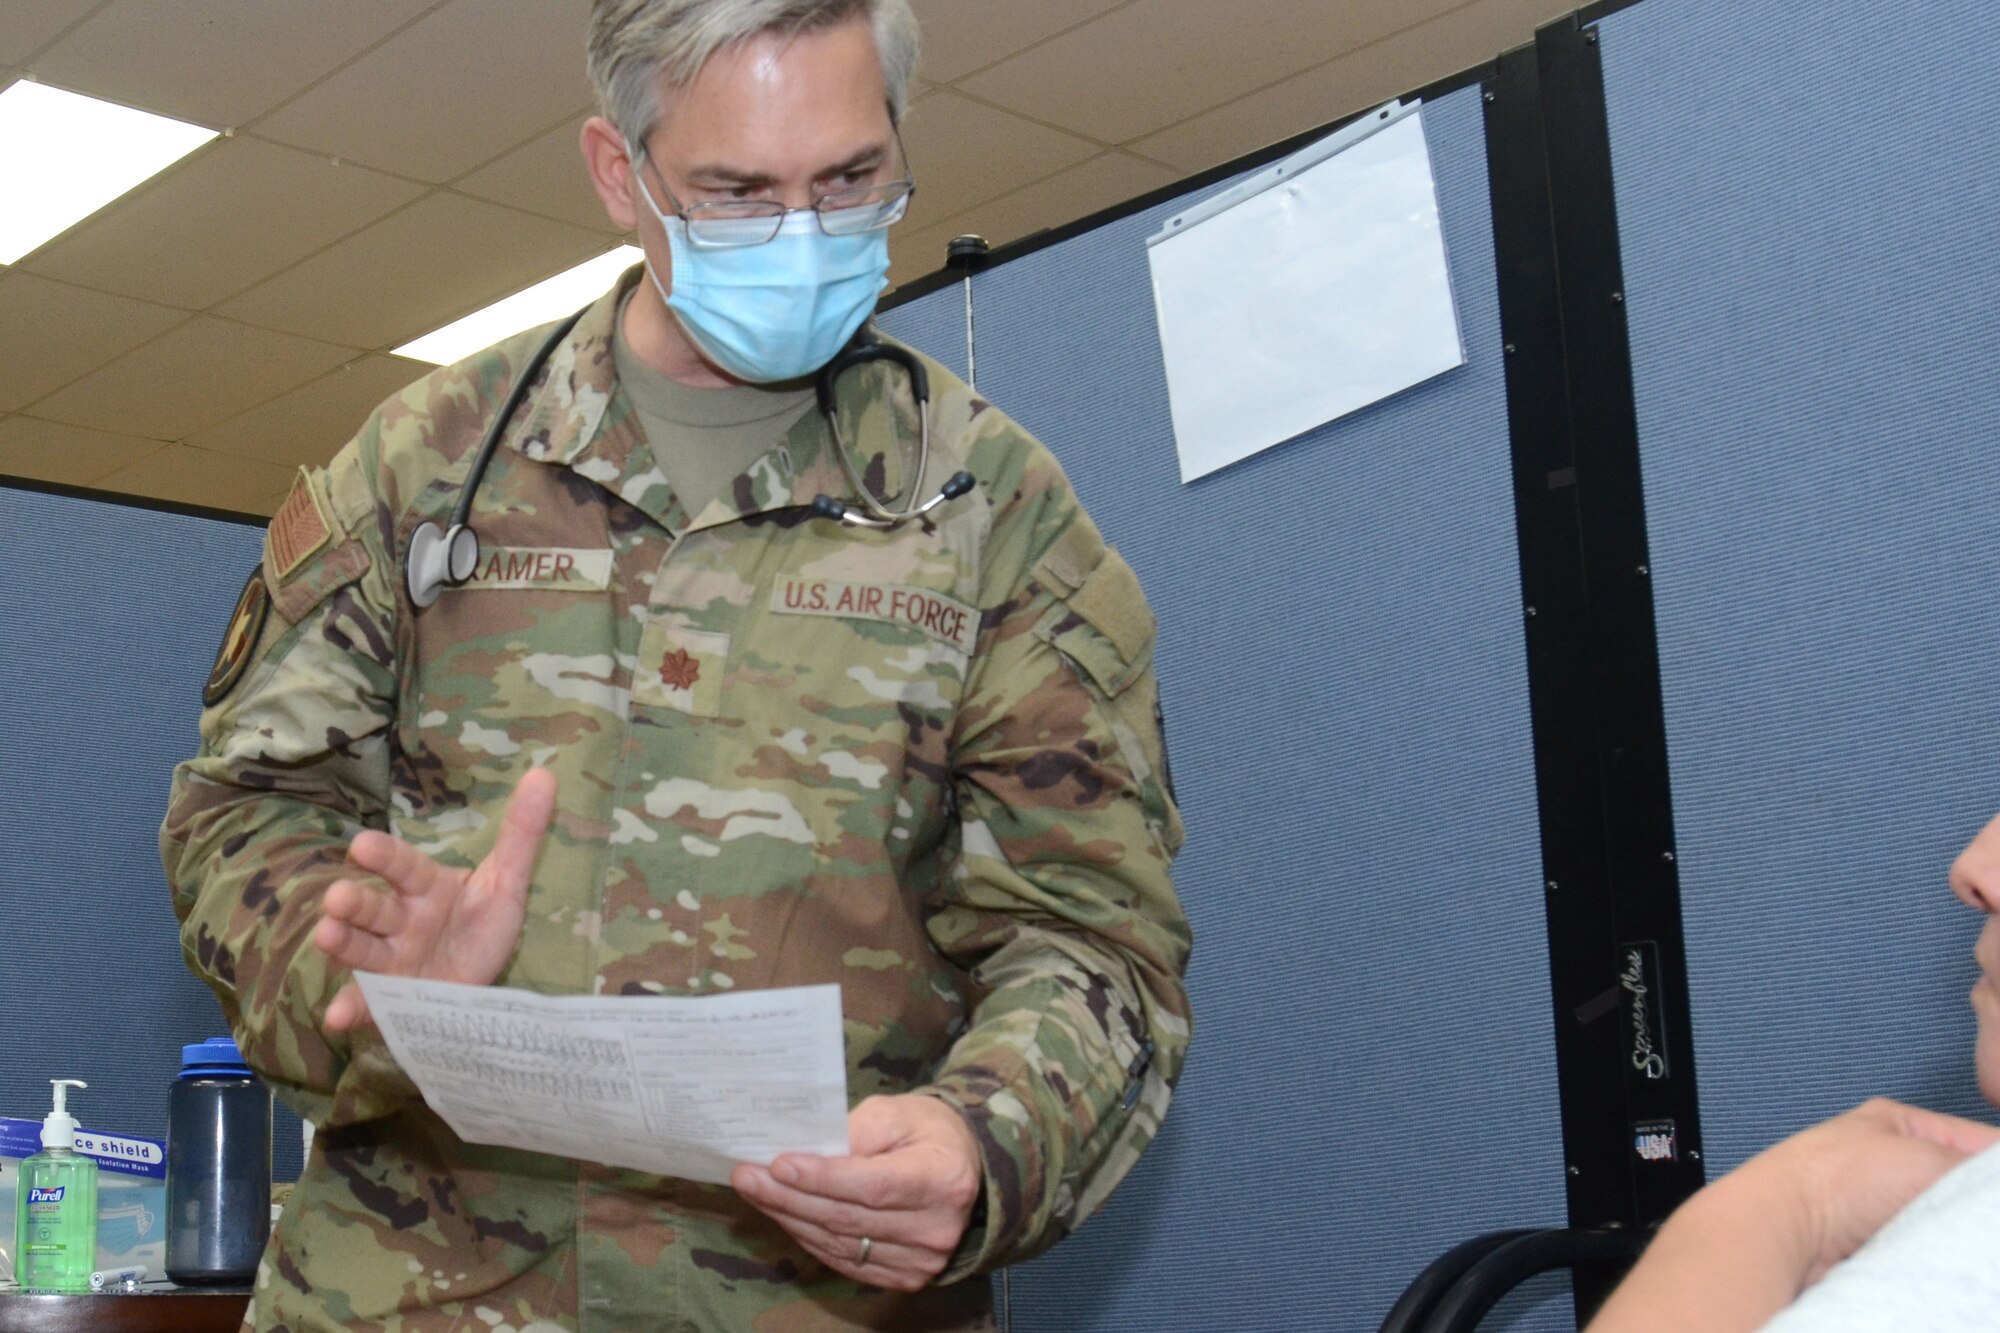
[[[958,86],[1124,144],[1464,0],[1136,0]]]

